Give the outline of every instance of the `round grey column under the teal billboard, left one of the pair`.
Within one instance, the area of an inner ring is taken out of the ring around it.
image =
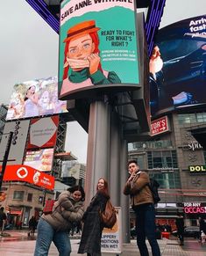
[[[90,104],[85,205],[96,194],[98,179],[108,180],[110,156],[110,106],[104,101]]]

